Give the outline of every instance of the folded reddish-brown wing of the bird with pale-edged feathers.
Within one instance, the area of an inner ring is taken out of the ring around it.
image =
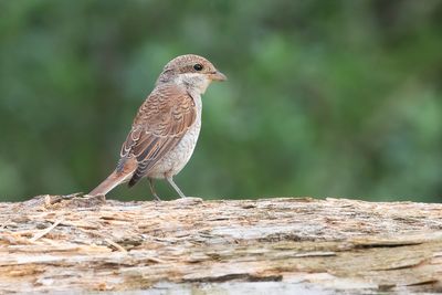
[[[196,117],[194,101],[186,89],[172,84],[154,89],[140,106],[122,147],[123,161],[128,157],[135,157],[138,161],[129,186],[135,185],[178,145]]]

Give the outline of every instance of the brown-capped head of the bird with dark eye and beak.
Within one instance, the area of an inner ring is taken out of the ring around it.
[[[159,83],[182,84],[186,88],[203,94],[212,81],[225,81],[227,76],[202,56],[186,54],[168,62],[157,80]]]

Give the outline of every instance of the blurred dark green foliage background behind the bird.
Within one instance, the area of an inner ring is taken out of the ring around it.
[[[0,199],[87,192],[172,57],[229,76],[188,196],[440,201],[442,1],[0,1]],[[160,196],[177,198],[164,181]],[[109,198],[150,200],[147,181]],[[165,198],[167,199],[167,198]]]

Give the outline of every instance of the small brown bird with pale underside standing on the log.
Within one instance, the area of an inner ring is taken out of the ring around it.
[[[105,196],[118,185],[133,187],[141,178],[155,191],[155,180],[166,179],[181,197],[175,183],[189,161],[201,129],[201,95],[213,81],[225,81],[210,61],[196,54],[185,54],[166,64],[155,87],[135,116],[124,141],[115,170],[88,194]]]

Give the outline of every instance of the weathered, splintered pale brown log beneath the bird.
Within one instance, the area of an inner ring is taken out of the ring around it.
[[[0,203],[0,293],[442,292],[441,229],[441,204],[42,196]]]

